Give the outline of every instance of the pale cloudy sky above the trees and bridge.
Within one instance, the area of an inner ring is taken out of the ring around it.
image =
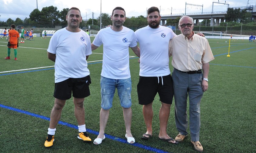
[[[219,3],[213,5],[213,2],[218,2],[218,0],[102,0],[101,12],[111,15],[112,10],[117,6],[125,9],[126,17],[147,15],[147,8],[152,6],[158,7],[161,15],[185,13],[185,8],[186,13],[198,13],[202,12],[202,9],[203,12],[211,12],[212,6],[213,11],[227,11],[228,5]],[[256,0],[227,0],[226,2],[219,0],[219,2],[229,4],[229,7],[256,5]],[[77,7],[80,9],[83,19],[92,18],[92,12],[94,12],[94,18],[100,15],[100,0],[90,2],[86,0],[0,0],[0,20],[6,21],[8,18],[24,20],[26,17],[29,18],[35,8],[41,11],[43,7],[51,5],[56,6],[59,11],[62,11],[63,8]]]

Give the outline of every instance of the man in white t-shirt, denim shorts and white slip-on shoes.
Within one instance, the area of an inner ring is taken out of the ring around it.
[[[128,143],[134,143],[131,134],[131,75],[129,68],[129,47],[140,57],[134,32],[123,26],[125,22],[125,11],[121,7],[114,8],[111,20],[113,26],[101,29],[96,35],[92,50],[103,44],[103,64],[101,71],[101,110],[99,119],[99,135],[94,140],[99,145],[105,139],[104,131],[109,117],[109,109],[112,107],[113,96],[117,88],[123,117],[125,121]]]

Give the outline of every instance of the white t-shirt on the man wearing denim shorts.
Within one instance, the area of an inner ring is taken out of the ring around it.
[[[133,30],[123,26],[121,31],[113,31],[110,27],[101,29],[93,44],[103,44],[103,64],[101,76],[110,79],[128,79],[131,77],[129,68],[129,46],[137,45]]]

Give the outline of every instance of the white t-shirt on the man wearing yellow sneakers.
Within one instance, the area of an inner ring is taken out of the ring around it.
[[[56,31],[47,51],[56,54],[55,83],[90,74],[86,56],[92,54],[92,47],[85,31],[70,32],[66,28]]]

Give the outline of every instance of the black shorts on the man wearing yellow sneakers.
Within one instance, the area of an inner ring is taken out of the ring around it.
[[[91,78],[89,75],[83,78],[69,78],[62,82],[55,83],[53,96],[61,100],[70,99],[71,94],[73,94],[75,98],[85,98],[90,95],[90,83]]]

